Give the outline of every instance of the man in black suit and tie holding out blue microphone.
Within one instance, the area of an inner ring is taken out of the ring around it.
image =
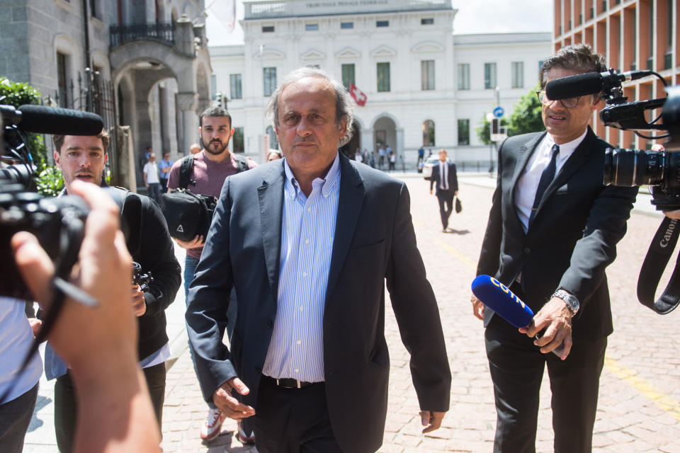
[[[589,46],[562,47],[543,64],[541,88],[553,79],[605,70],[604,57]],[[477,265],[477,275],[496,277],[536,316],[518,331],[474,296],[472,305],[486,327],[498,414],[494,452],[536,451],[546,365],[555,452],[590,452],[613,330],[604,270],[616,257],[637,188],[602,184],[609,145],[589,127],[599,95],[553,101],[540,91],[538,98],[547,132],[510,137],[501,145]]]

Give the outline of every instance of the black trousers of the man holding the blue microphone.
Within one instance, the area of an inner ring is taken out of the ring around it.
[[[512,287],[513,292],[517,289],[519,285]],[[552,352],[541,353],[532,338],[494,316],[485,343],[496,399],[494,453],[536,452],[538,395],[546,365],[553,393],[555,453],[591,452],[607,339],[574,343],[562,361]]]

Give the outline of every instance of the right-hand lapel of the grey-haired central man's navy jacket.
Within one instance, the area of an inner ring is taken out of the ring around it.
[[[333,253],[331,254],[331,268],[328,274],[326,303],[329,301],[330,294],[333,294],[340,271],[345,263],[364,196],[363,179],[349,159],[340,154],[338,216],[335,222],[335,238],[333,240]]]

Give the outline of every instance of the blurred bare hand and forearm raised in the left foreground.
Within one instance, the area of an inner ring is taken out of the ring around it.
[[[103,190],[80,181],[73,181],[70,190],[91,208],[74,283],[98,300],[98,306],[87,307],[67,298],[48,336],[69,363],[78,392],[74,451],[158,452],[160,432],[137,365],[137,327],[128,289],[131,258],[118,229],[118,207]],[[35,236],[21,232],[11,243],[23,280],[45,304],[54,265]],[[13,451],[6,449],[4,439],[0,446],[3,452]]]

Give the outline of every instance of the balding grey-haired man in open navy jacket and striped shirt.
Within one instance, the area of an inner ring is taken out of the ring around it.
[[[252,417],[261,453],[375,452],[390,372],[386,280],[423,431],[437,429],[450,369],[406,186],[338,153],[352,101],[320,69],[286,76],[268,113],[285,159],[227,178],[189,291],[203,396]]]

